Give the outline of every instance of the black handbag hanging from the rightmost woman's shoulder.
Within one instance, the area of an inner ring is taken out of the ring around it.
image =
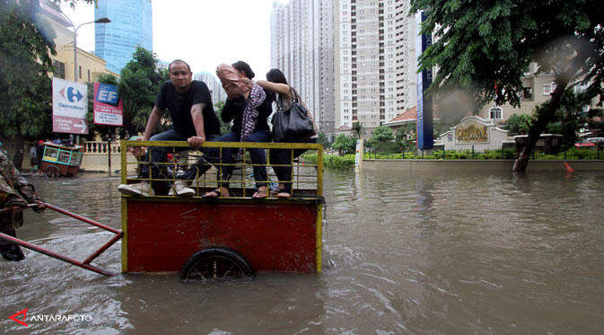
[[[276,142],[287,142],[314,136],[315,128],[308,111],[298,101],[293,88],[292,104],[288,110],[277,111],[271,119],[273,123],[273,138]],[[279,108],[281,110],[281,108]]]

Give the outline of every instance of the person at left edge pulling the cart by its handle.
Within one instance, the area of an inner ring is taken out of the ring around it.
[[[0,143],[0,233],[17,237],[15,227],[23,225],[22,208],[28,206],[28,203],[35,204],[41,202],[33,189],[33,185],[25,180],[17,169],[8,154],[2,150]],[[44,210],[44,207],[34,207],[37,212]],[[25,258],[21,247],[13,242],[5,241],[0,237],[0,254],[5,260],[22,260]]]

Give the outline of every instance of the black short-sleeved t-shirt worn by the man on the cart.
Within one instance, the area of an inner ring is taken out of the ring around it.
[[[157,93],[157,98],[155,98],[155,106],[162,110],[168,110],[172,120],[172,128],[187,137],[197,135],[193,118],[191,118],[191,107],[197,103],[206,103],[206,107],[202,110],[206,137],[220,135],[220,122],[214,112],[212,97],[206,83],[194,80],[191,82],[187,93],[179,93],[172,82],[167,81],[162,84],[160,92]]]

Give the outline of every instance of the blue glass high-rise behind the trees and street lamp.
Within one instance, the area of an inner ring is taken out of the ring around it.
[[[109,17],[109,24],[95,24],[94,53],[119,73],[132,59],[137,46],[153,50],[151,0],[98,0],[94,19]]]

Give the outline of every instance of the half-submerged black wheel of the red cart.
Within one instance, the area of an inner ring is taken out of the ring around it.
[[[239,252],[211,247],[189,257],[180,269],[179,277],[183,281],[254,278],[254,269]]]

